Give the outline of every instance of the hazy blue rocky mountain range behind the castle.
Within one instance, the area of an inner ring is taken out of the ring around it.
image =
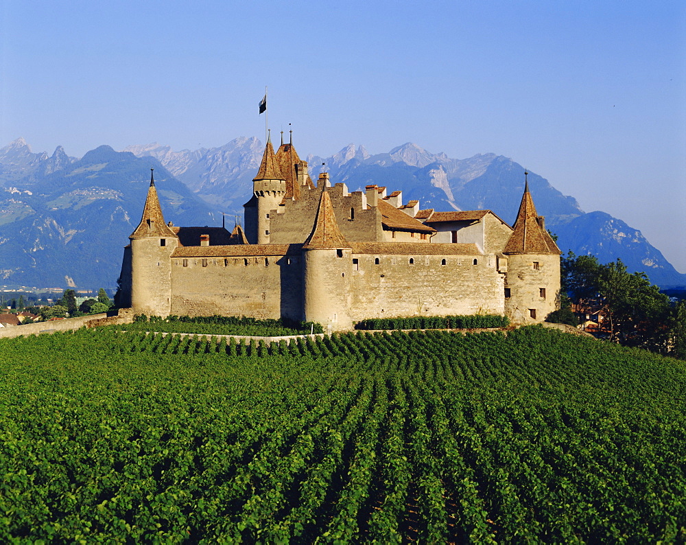
[[[157,143],[116,152],[100,146],[81,159],[58,147],[49,156],[17,139],[0,149],[0,279],[8,285],[113,288],[122,248],[138,224],[150,168],[165,218],[177,225],[221,224],[221,213],[242,218],[252,194],[263,144],[241,137],[220,148],[171,150]],[[495,154],[450,159],[405,143],[383,154],[350,144],[330,157],[309,155],[310,174],[323,168],[351,191],[375,183],[416,199],[422,209],[493,210],[512,224],[524,169]],[[618,257],[659,286],[686,286],[637,229],[601,211],[584,212],[538,174],[529,185],[547,229],[566,253]],[[230,226],[233,227],[233,220]]]

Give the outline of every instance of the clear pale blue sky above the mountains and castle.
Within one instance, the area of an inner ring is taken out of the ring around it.
[[[683,1],[3,0],[0,146],[511,157],[686,272]]]

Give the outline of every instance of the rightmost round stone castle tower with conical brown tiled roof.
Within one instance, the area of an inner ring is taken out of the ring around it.
[[[524,194],[514,231],[503,253],[508,257],[505,313],[514,322],[543,321],[559,306],[560,248],[536,214],[524,172]]]

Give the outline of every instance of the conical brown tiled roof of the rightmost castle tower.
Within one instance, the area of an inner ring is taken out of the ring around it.
[[[528,174],[525,172],[524,176]],[[529,192],[529,182],[526,178],[524,194],[513,229],[503,253],[560,253],[560,248],[544,227],[543,218],[536,214],[536,207],[534,207],[534,200]]]

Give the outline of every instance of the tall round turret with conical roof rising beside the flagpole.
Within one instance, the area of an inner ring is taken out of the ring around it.
[[[271,136],[264,148],[257,176],[252,179],[252,198],[244,205],[246,236],[250,244],[269,244],[269,214],[286,195],[286,180],[274,156]]]

